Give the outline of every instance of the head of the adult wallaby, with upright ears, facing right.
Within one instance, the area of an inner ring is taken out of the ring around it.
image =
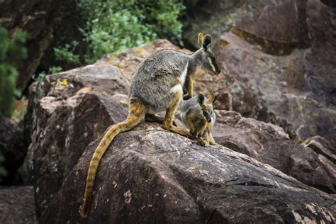
[[[198,46],[201,47],[199,54],[197,55],[198,61],[201,62],[201,67],[206,69],[211,74],[219,74],[220,67],[218,66],[215,54],[210,50],[211,45],[211,35],[204,35],[203,33],[198,33]]]

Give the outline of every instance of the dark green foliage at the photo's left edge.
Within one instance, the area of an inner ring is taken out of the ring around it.
[[[0,27],[0,113],[10,117],[14,95],[20,95],[15,88],[18,60],[26,57],[26,33],[17,30],[9,37],[5,28]]]

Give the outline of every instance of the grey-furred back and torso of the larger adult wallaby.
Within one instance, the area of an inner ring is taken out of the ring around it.
[[[176,96],[176,92],[171,91],[172,88],[180,84],[181,90],[183,89],[181,74],[185,68],[186,76],[193,75],[198,67],[211,73],[220,72],[220,69],[219,72],[213,71],[211,65],[208,65],[211,61],[210,57],[214,57],[211,50],[205,50],[203,47],[191,55],[174,50],[155,52],[135,71],[130,84],[130,101],[143,103],[147,110],[146,113],[154,114],[165,111],[170,108],[170,102]],[[176,89],[179,90],[179,88]]]

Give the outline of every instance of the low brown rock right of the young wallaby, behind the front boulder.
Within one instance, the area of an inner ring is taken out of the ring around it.
[[[227,117],[229,120],[230,113]],[[325,158],[310,147],[289,140],[289,135],[279,126],[240,118],[229,125],[216,123],[213,138],[218,144],[267,163],[309,186],[331,194],[336,192],[335,165],[326,164]]]

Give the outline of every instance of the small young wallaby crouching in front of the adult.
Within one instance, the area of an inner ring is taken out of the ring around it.
[[[181,103],[182,122],[189,128],[194,138],[199,138],[198,144],[203,146],[215,145],[215,140],[211,135],[215,124],[213,101],[215,101],[215,94],[212,93],[209,99],[206,99],[203,94],[198,94]]]

